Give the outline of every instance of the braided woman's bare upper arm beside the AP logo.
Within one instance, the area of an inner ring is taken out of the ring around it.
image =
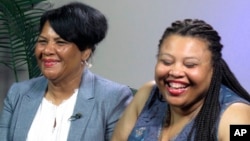
[[[250,125],[250,105],[234,103],[226,109],[219,123],[219,141],[230,140],[230,125],[232,124]]]

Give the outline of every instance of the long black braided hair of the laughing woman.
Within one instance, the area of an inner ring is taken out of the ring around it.
[[[199,38],[208,42],[209,50],[212,53],[213,75],[204,104],[195,118],[194,126],[187,140],[191,140],[194,133],[194,140],[197,141],[217,140],[216,122],[220,113],[219,93],[221,84],[227,86],[247,101],[250,101],[250,95],[241,86],[227,63],[223,60],[221,54],[223,45],[220,43],[221,37],[211,25],[198,19],[176,21],[163,33],[158,45],[159,50],[163,40],[173,34]]]

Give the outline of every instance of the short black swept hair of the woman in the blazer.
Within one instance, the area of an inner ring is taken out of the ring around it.
[[[80,51],[101,42],[107,33],[106,17],[97,9],[80,2],[71,2],[46,11],[40,19],[40,32],[46,21],[64,40],[75,43]]]

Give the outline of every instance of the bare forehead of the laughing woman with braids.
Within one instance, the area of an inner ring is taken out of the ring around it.
[[[165,38],[160,46],[160,54],[185,57],[211,57],[209,44],[199,37],[170,35]]]

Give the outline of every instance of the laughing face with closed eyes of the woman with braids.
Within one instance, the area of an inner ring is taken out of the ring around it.
[[[155,81],[170,105],[189,107],[203,101],[213,73],[211,64],[207,42],[170,35],[159,51]]]

